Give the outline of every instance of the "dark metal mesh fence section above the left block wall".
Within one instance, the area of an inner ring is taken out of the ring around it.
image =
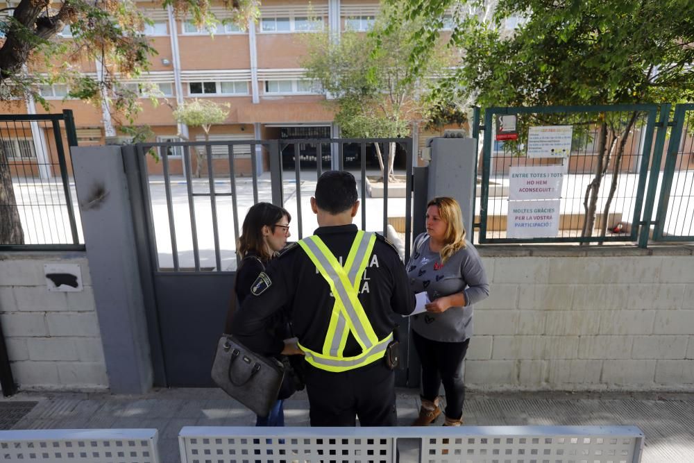
[[[69,146],[71,110],[0,115],[0,251],[84,249]]]

